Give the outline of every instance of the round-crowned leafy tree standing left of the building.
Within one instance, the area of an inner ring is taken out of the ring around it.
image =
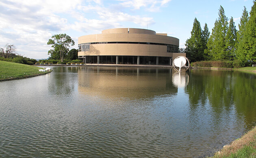
[[[64,56],[69,51],[68,47],[75,45],[75,42],[66,34],[55,34],[52,38],[49,39],[47,45],[52,45],[54,49],[48,51],[48,54],[59,53],[61,62],[63,62]]]

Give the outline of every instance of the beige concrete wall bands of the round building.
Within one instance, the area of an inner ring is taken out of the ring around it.
[[[149,42],[164,43],[169,45],[179,45],[179,39],[167,34],[156,34],[152,30],[135,28],[117,28],[103,30],[102,34],[93,34],[78,37],[78,44],[92,42]],[[146,45],[146,44],[93,44],[90,45],[90,51],[80,51],[78,56],[161,56],[173,57],[173,54],[167,53],[165,45]],[[175,55],[179,56],[179,55]]]

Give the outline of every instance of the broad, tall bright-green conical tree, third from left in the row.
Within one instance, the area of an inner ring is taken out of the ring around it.
[[[222,6],[219,8],[219,18],[215,21],[212,34],[207,43],[207,53],[213,60],[225,60],[226,56],[226,35],[228,32],[228,18]]]

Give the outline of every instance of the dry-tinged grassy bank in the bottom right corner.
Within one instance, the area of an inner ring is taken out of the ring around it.
[[[230,145],[225,145],[212,158],[256,158],[256,127]]]

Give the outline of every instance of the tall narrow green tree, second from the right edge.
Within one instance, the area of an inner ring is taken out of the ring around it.
[[[240,23],[238,24],[239,30],[237,31],[237,46],[236,46],[236,58],[241,62],[245,62],[245,53],[244,53],[244,46],[245,46],[245,29],[246,24],[249,20],[248,12],[244,6],[243,15],[240,19]]]

